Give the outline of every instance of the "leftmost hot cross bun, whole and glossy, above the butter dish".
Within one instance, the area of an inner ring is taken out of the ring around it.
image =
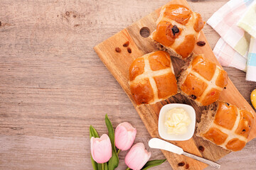
[[[137,105],[156,103],[177,94],[169,53],[151,52],[134,60],[129,67],[129,86]]]

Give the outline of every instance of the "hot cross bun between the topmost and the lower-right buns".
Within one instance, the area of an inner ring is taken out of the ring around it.
[[[181,94],[195,100],[199,106],[217,101],[227,84],[228,74],[203,55],[194,55],[178,79]]]

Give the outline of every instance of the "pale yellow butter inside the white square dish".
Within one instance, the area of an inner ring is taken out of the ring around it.
[[[191,119],[183,108],[172,108],[166,112],[164,125],[169,134],[182,135],[188,131]]]

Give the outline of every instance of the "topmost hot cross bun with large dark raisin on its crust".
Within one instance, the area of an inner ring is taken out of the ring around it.
[[[151,38],[160,50],[166,50],[171,56],[186,59],[191,55],[204,24],[199,13],[186,6],[167,4],[161,8],[156,30],[151,34]]]

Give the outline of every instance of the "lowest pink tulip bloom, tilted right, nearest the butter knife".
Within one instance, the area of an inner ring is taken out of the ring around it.
[[[128,152],[125,157],[125,164],[130,169],[139,170],[149,161],[151,153],[147,152],[143,143],[137,143]]]

